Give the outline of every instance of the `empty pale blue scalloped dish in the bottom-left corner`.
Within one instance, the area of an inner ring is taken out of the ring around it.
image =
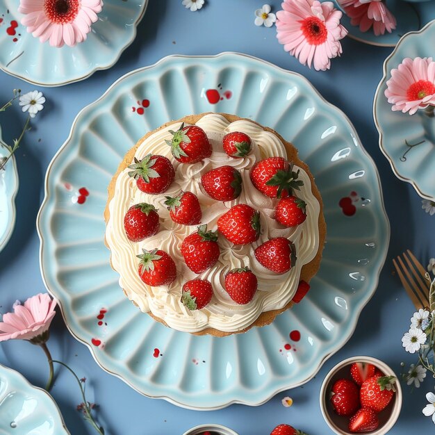
[[[0,435],[69,435],[47,391],[0,365]]]

